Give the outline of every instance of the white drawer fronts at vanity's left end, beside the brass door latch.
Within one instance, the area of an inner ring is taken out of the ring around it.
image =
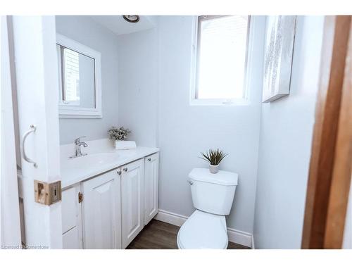
[[[63,249],[82,249],[82,210],[78,201],[80,183],[62,192]]]

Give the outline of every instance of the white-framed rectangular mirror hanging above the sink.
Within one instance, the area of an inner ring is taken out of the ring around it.
[[[59,34],[56,42],[60,117],[101,118],[101,54]]]

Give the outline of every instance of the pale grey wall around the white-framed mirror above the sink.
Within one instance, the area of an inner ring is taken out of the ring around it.
[[[113,32],[83,15],[56,16],[56,32],[101,52],[103,118],[60,118],[60,143],[72,143],[76,137],[87,140],[108,136],[118,125],[118,39]]]

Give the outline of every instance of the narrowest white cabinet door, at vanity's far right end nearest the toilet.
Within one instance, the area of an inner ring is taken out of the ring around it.
[[[158,213],[159,153],[144,158],[144,225]]]

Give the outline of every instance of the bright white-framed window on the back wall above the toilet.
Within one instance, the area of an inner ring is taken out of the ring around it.
[[[248,15],[198,17],[192,104],[246,100]]]

